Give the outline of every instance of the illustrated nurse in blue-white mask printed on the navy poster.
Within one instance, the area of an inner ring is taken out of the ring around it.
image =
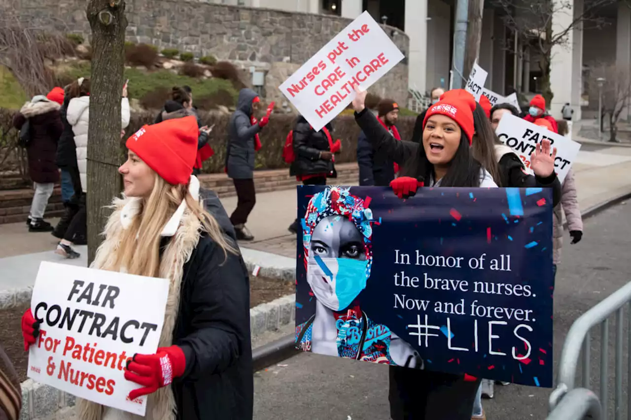
[[[360,308],[372,267],[372,211],[349,189],[327,187],[309,201],[303,223],[307,283],[315,313],[296,327],[297,347],[328,356],[423,368],[407,342]]]

